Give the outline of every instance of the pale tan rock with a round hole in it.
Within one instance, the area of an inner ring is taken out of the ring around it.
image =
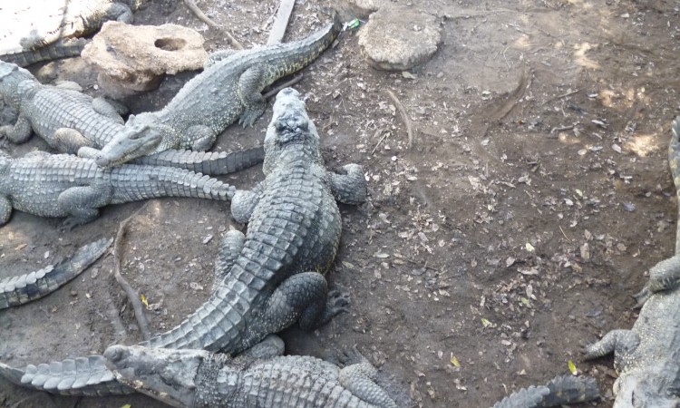
[[[155,89],[165,73],[197,70],[208,53],[202,35],[177,24],[130,25],[110,21],[82,57],[105,92],[121,98]]]

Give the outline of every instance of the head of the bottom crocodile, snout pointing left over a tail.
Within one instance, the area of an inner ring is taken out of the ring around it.
[[[141,345],[112,345],[104,352],[116,379],[172,406],[194,406],[205,350],[172,350]]]

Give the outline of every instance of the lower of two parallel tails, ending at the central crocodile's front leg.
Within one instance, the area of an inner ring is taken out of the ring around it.
[[[124,165],[110,170],[112,203],[186,197],[230,200],[236,188],[201,173],[163,166]]]

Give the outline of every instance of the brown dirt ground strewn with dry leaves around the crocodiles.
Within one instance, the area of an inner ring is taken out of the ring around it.
[[[324,22],[315,3],[297,2],[287,40]],[[442,44],[429,63],[413,75],[375,71],[354,30],[296,85],[308,97],[327,164],[363,165],[370,199],[341,208],[343,238],[328,276],[331,287],[351,294],[351,313],[313,334],[287,330],[287,353],[323,356],[357,345],[390,377],[399,403],[426,407],[491,406],[519,387],[568,374],[573,360],[604,394],[584,406],[610,406],[612,359],[586,363],[579,350],[633,325],[631,295],[647,269],[674,252],[666,146],[680,113],[680,2],[395,3],[440,18]],[[267,41],[277,1],[199,5],[252,46]],[[209,51],[228,47],[182,2],[154,0],[136,15],[136,24],[168,22],[199,30]],[[80,59],[34,73],[98,93]],[[160,90],[126,102],[132,112],[157,110],[194,74],[170,76]],[[413,121],[411,147],[386,89]],[[218,149],[261,143],[270,115],[253,128],[230,127]],[[5,147],[21,155],[46,145],[33,138]],[[258,166],[225,180],[249,188],[262,177]],[[59,219],[17,212],[0,228],[0,277],[114,236],[140,207],[103,209],[69,232]],[[209,296],[219,237],[230,226],[243,228],[224,204],[190,199],[153,200],[132,221],[123,273],[149,299],[154,332],[177,325]],[[140,341],[112,265],[104,257],[52,296],[0,313],[0,360],[24,366]],[[141,395],[52,396],[0,382],[0,406],[126,403],[161,406]]]

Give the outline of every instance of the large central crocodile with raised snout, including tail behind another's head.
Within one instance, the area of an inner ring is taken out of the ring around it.
[[[348,164],[344,170],[324,169],[319,135],[299,93],[279,92],[265,137],[266,178],[253,191],[237,191],[231,203],[235,218],[249,222],[248,233],[228,231],[209,299],[180,325],[141,345],[237,355],[296,321],[311,329],[345,310],[346,296],[328,294],[319,272],[331,266],[340,241],[335,199],[366,199],[361,167]],[[77,360],[25,369],[0,364],[0,374],[53,393],[130,392],[112,384],[102,355],[83,357],[74,375]]]

